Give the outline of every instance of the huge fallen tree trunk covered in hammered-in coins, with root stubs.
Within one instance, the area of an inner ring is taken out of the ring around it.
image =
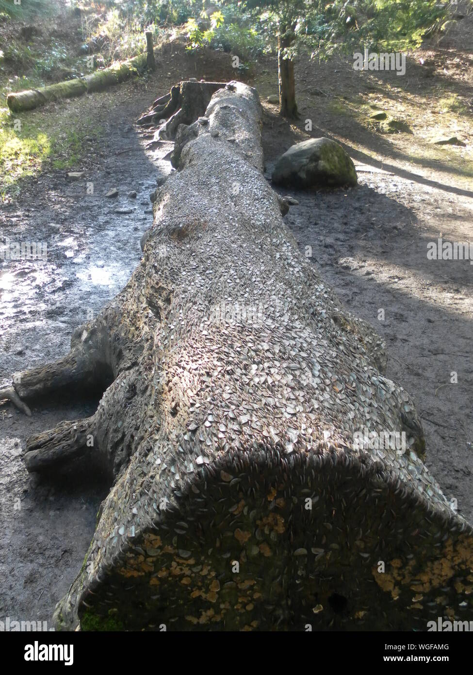
[[[260,115],[256,92],[231,83],[206,124],[179,127],[179,170],[126,288],[61,362],[15,377],[22,400],[113,380],[92,417],[26,448],[30,470],[49,470],[92,438],[86,453],[115,476],[58,628],[468,618],[472,528],[422,462],[412,401],[380,374],[383,343],[283,225]],[[365,428],[406,433],[405,452],[357,444]]]

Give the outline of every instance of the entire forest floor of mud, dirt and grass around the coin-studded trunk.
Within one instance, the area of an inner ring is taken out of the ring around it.
[[[410,54],[404,77],[355,72],[348,60],[319,65],[302,58],[296,65],[301,117],[291,125],[265,103],[277,92],[275,59],[260,59],[248,77],[265,107],[268,180],[275,159],[309,137],[334,138],[354,159],[356,189],[279,190],[299,202],[285,222],[345,306],[387,341],[387,375],[416,401],[426,464],[469,520],[473,267],[428,261],[427,244],[439,236],[473,238],[472,51],[444,42]],[[171,84],[189,77],[235,78],[230,55],[189,55],[182,45],[169,45],[155,74],[20,116],[24,134],[31,125],[34,134],[46,130],[48,140],[54,128],[65,141],[3,190],[0,243],[46,242],[47,261],[0,262],[0,378],[65,354],[74,328],[126,284],[152,223],[150,192],[157,175],[170,170],[164,151],[146,150],[146,132],[135,122]],[[402,119],[412,133],[382,133],[370,111]],[[464,145],[435,145],[438,136],[457,136]],[[68,180],[73,170],[84,173]],[[111,188],[116,198],[105,196]],[[1,620],[51,622],[109,489],[90,467],[60,481],[40,480],[24,467],[28,435],[94,410],[96,401],[73,394],[69,401],[42,402],[31,418],[0,405]]]

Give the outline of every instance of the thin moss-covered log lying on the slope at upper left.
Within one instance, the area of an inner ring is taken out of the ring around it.
[[[12,92],[7,96],[7,105],[11,111],[22,113],[45,105],[49,101],[70,99],[85,93],[103,91],[112,84],[125,82],[145,66],[146,54],[139,55],[128,61],[113,63],[109,68],[97,70],[83,78],[74,78],[74,80],[50,84],[39,89]]]

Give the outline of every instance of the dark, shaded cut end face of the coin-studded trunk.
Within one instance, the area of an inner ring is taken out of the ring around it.
[[[101,570],[90,555],[63,628],[113,630],[113,607],[115,630],[426,630],[466,599],[470,529],[386,466],[322,448],[197,462],[154,526],[111,531]]]

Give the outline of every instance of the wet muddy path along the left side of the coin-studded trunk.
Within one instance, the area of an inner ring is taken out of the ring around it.
[[[140,237],[152,223],[149,195],[157,175],[170,167],[160,163],[159,152],[146,155],[132,127],[154,96],[153,90],[144,99],[138,89],[137,99],[136,86],[121,92],[126,105],[115,109],[107,140],[90,155],[80,180],[43,175],[22,194],[22,208],[12,204],[3,211],[6,236],[47,242],[47,263],[11,261],[0,276],[2,376],[67,352],[74,327],[121,290],[140,260]],[[94,194],[87,194],[90,183]],[[112,188],[119,196],[105,197]],[[136,198],[128,197],[132,191]],[[48,403],[26,418],[1,406],[1,617],[50,621],[82,564],[108,491],[105,477],[98,472],[92,485],[90,472],[87,481],[68,475],[59,483],[40,482],[28,476],[20,453],[31,433],[94,409],[87,401],[59,408]]]

